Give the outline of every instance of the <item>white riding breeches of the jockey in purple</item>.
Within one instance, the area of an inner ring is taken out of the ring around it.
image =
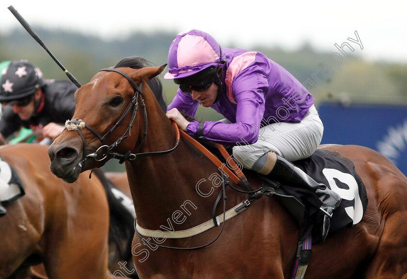
[[[221,121],[230,123],[227,119]],[[309,157],[321,143],[323,132],[324,125],[312,105],[301,122],[277,122],[260,128],[257,142],[235,146],[233,156],[247,169],[269,151],[293,162]]]

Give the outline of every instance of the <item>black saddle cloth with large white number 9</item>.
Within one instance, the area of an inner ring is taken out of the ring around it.
[[[356,173],[352,161],[336,151],[317,149],[310,157],[295,161],[293,164],[342,197],[330,220],[327,238],[345,227],[350,228],[360,222],[366,212],[368,199],[365,186]],[[267,184],[264,177],[260,178],[260,181]],[[319,226],[322,226],[324,215],[319,210],[321,201],[310,191],[289,185],[281,185],[275,191],[282,205],[297,219],[300,239],[312,232],[313,243],[319,242],[321,239],[318,231],[321,231]]]

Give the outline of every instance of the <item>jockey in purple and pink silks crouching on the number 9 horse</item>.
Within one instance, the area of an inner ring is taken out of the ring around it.
[[[233,156],[244,168],[312,191],[323,204],[324,240],[341,197],[291,163],[313,154],[322,139],[324,127],[312,94],[264,54],[221,48],[199,30],[176,36],[168,65],[164,78],[179,85],[168,118],[191,136],[234,146]],[[181,115],[193,117],[199,104],[226,118],[199,123]]]

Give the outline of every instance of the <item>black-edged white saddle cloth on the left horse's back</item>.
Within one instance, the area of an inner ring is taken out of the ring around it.
[[[0,202],[11,202],[25,195],[16,170],[0,156]]]

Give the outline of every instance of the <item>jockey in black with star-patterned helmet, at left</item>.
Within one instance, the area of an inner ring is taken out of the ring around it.
[[[39,68],[27,60],[6,61],[0,76],[0,138],[5,141],[21,126],[42,130],[54,140],[75,112],[72,82],[44,80]],[[3,64],[2,63],[2,64]]]

